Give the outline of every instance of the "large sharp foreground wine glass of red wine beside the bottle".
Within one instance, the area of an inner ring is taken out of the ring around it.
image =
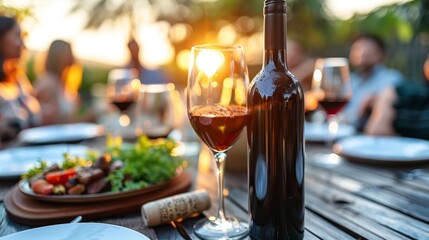
[[[194,226],[203,239],[239,239],[248,226],[226,216],[224,163],[248,115],[249,77],[243,49],[235,45],[199,45],[191,51],[187,86],[188,117],[197,135],[214,154],[218,177],[217,216]]]

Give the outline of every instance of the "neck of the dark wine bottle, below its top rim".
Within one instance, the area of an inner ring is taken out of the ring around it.
[[[270,62],[286,63],[286,13],[269,12],[264,14],[264,65]]]

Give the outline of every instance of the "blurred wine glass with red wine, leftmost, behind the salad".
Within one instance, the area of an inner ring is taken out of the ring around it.
[[[120,112],[119,125],[130,125],[127,110],[137,100],[140,90],[140,80],[135,69],[118,68],[109,72],[106,96],[108,101]]]

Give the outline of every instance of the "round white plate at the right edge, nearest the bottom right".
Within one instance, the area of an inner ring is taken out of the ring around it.
[[[429,141],[403,137],[354,136],[339,140],[334,152],[369,163],[419,163],[429,161]]]

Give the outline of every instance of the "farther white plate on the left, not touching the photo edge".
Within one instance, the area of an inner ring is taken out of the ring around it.
[[[67,143],[103,134],[103,127],[97,124],[73,123],[25,129],[19,134],[19,140],[28,144]]]

